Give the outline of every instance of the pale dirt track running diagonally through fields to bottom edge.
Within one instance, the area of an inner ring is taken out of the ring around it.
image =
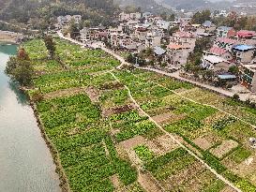
[[[110,72],[113,76],[113,78],[116,81],[120,80],[113,74],[113,72]],[[208,164],[206,164],[203,159],[201,159],[198,155],[195,155],[192,151],[190,151],[188,149],[188,147],[186,147],[184,144],[182,144],[179,140],[176,140],[172,134],[170,134],[168,131],[166,131],[162,126],[160,126],[148,113],[146,113],[145,111],[143,111],[143,109],[141,108],[141,106],[137,103],[137,101],[133,98],[129,88],[127,85],[125,85],[125,88],[128,90],[128,96],[130,97],[131,101],[135,104],[135,106],[138,108],[139,111],[141,111],[145,116],[148,117],[148,119],[154,123],[156,126],[158,126],[158,128],[163,131],[166,135],[168,135],[173,141],[175,141],[180,147],[182,147],[183,149],[185,149],[189,155],[194,156],[197,160],[199,160],[203,166],[205,168],[207,168],[208,170],[210,170],[212,173],[214,173],[216,175],[216,177],[221,180],[222,182],[224,182],[226,185],[229,185],[230,187],[232,187],[235,191],[237,192],[242,192],[239,188],[237,188],[235,185],[233,185],[230,181],[228,181],[227,179],[225,179],[222,175],[218,174],[218,172],[214,169],[212,169]]]

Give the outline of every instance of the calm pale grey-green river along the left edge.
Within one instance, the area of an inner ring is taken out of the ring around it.
[[[59,192],[53,158],[33,110],[4,73],[14,45],[0,45],[0,191]]]

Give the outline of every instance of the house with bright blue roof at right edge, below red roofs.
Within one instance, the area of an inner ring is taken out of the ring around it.
[[[250,63],[255,52],[254,46],[235,45],[233,46],[233,55],[236,58],[236,63]]]

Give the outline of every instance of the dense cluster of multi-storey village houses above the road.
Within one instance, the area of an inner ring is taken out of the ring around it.
[[[80,22],[81,17],[59,17],[58,21],[65,26],[72,19]],[[228,26],[217,27],[211,21],[192,24],[191,18],[178,18],[174,22],[167,22],[149,12],[122,12],[118,21],[116,27],[84,27],[79,38],[84,44],[101,42],[98,43],[100,46],[108,44],[114,50],[131,53],[152,49],[159,62],[167,64],[169,69],[178,70],[188,63],[188,56],[194,51],[196,40],[208,37],[213,41],[213,46],[203,52],[201,66],[214,70],[218,75],[228,74],[231,66],[239,66],[242,84],[254,90],[254,31],[235,31]],[[170,34],[173,27],[177,30]],[[150,58],[146,60],[150,61]]]

